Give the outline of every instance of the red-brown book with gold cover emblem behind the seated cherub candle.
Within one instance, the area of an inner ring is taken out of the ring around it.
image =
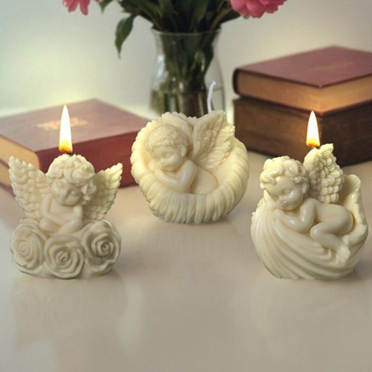
[[[60,155],[62,108],[0,118],[0,160],[7,164],[13,155],[46,172]],[[96,172],[120,162],[124,168],[121,185],[135,183],[130,174],[131,147],[148,120],[98,100],[70,104],[68,110],[74,154],[83,155]]]

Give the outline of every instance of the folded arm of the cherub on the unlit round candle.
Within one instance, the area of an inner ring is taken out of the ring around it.
[[[168,184],[172,189],[183,193],[185,190],[188,190],[193,183],[196,173],[197,173],[197,166],[191,160],[185,160],[184,163],[181,165],[181,168],[177,173],[173,173],[174,175],[179,174],[179,177],[173,177],[167,175],[161,169],[155,167],[155,176],[163,183]]]

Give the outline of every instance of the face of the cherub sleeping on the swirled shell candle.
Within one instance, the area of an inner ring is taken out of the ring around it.
[[[276,208],[285,211],[296,209],[304,198],[299,185],[286,176],[276,177],[275,181],[275,184],[266,183],[265,189],[274,200]]]

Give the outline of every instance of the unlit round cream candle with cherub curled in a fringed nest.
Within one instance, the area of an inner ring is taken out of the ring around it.
[[[245,146],[224,111],[201,118],[165,113],[137,135],[132,175],[166,222],[216,221],[242,199],[249,175]]]

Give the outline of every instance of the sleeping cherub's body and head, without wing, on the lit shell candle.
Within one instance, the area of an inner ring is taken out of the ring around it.
[[[309,181],[305,167],[297,160],[280,157],[268,161],[260,176],[261,188],[274,200],[274,217],[304,233],[322,246],[334,250],[342,261],[350,256],[348,246],[338,237],[353,227],[353,216],[345,207],[321,203],[307,196]],[[299,208],[297,213],[291,211]]]

